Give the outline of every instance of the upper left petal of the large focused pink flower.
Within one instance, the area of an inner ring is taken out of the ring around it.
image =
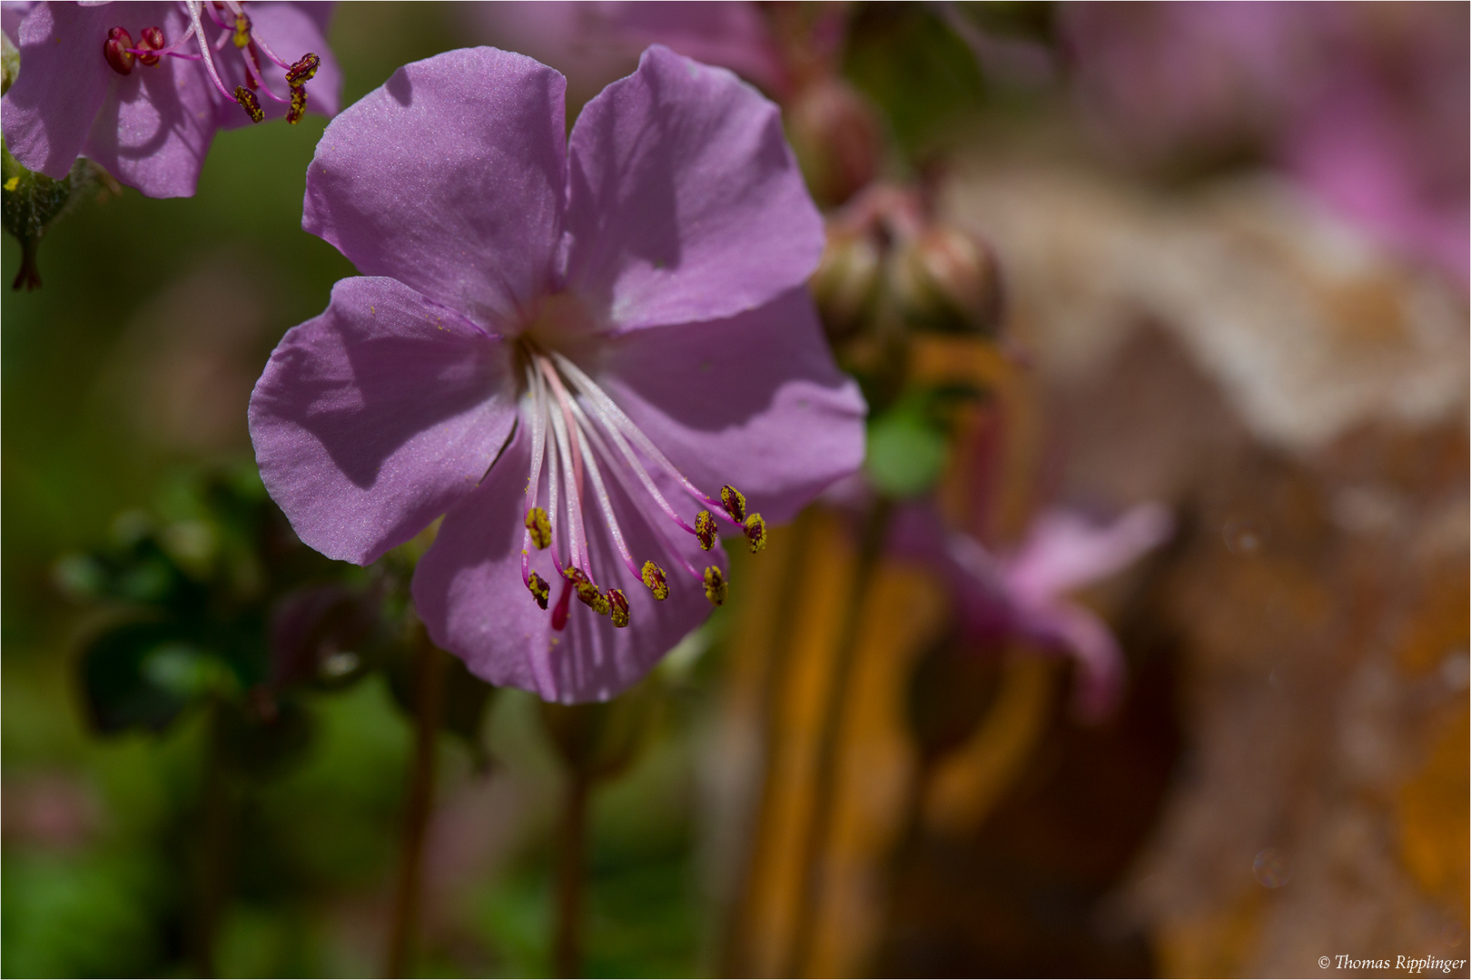
[[[327,126],[302,226],[365,275],[478,323],[550,287],[566,184],[565,82],[488,47],[400,68]]]

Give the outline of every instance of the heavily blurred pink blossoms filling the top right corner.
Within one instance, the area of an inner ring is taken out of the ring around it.
[[[1116,153],[1256,148],[1467,282],[1467,4],[1080,3],[1061,29],[1077,98]]]

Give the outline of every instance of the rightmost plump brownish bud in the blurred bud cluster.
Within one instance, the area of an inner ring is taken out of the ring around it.
[[[888,269],[900,313],[946,334],[993,334],[1000,319],[996,260],[974,235],[933,226],[902,245]]]

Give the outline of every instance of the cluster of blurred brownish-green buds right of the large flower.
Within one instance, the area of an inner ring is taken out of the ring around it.
[[[987,244],[883,184],[828,219],[812,294],[836,342],[884,326],[990,336],[1002,311]]]

